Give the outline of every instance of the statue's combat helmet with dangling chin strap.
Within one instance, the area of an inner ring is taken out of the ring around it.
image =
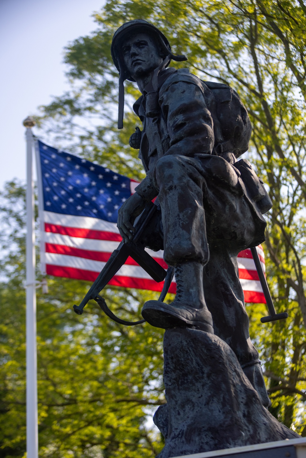
[[[162,64],[156,68],[154,72],[154,80],[157,80],[158,73],[167,65],[170,61],[182,61],[187,60],[187,57],[184,55],[174,55],[171,51],[171,46],[163,33],[161,33],[158,28],[153,26],[143,19],[134,19],[133,21],[125,22],[121,27],[117,29],[114,33],[112,42],[111,42],[111,57],[116,65],[117,70],[119,71],[119,100],[118,100],[118,129],[123,127],[123,109],[124,109],[124,81],[135,81],[132,76],[129,74],[127,68],[124,65],[122,55],[120,54],[120,43],[124,37],[130,33],[148,33],[154,39],[156,39],[159,49],[161,50],[161,57],[163,58]]]

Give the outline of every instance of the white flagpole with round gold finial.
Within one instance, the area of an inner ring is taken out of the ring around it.
[[[26,241],[26,344],[27,344],[27,457],[38,458],[37,348],[34,182],[32,176],[33,133],[35,121],[29,116],[27,127],[27,241]]]

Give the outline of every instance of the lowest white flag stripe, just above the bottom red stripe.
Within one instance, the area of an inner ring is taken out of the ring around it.
[[[80,258],[78,256],[59,255],[56,253],[46,253],[46,264],[61,267],[74,267],[75,269],[90,270],[99,272],[103,269],[106,262],[92,261],[91,259]],[[124,264],[116,273],[124,277],[149,278],[150,275],[140,266],[130,266]]]

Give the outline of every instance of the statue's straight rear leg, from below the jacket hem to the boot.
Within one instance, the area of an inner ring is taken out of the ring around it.
[[[250,341],[249,317],[239,282],[236,253],[224,244],[210,243],[210,260],[204,267],[204,294],[214,332],[234,351],[239,363],[265,407],[271,405],[262,375],[258,352]]]

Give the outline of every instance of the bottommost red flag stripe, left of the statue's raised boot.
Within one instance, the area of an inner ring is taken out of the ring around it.
[[[94,282],[98,277],[98,272],[92,272],[90,270],[76,269],[74,267],[61,267],[46,265],[46,272],[48,275],[54,275],[56,277],[75,278],[77,280],[86,280]],[[156,283],[154,280],[146,278],[131,278],[115,275],[109,282],[112,286],[122,286],[124,288],[136,288],[136,289],[150,289],[152,291],[161,291],[164,282]],[[171,284],[169,293],[176,292],[176,285]]]

